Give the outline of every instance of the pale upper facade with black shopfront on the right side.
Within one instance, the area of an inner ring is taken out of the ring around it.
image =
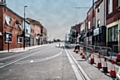
[[[96,5],[96,26],[94,42],[97,46],[106,46],[106,0],[98,0]]]

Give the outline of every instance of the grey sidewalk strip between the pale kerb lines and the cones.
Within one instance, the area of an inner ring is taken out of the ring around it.
[[[91,80],[115,80],[109,76],[109,73],[104,74],[100,69],[96,67],[96,64],[89,64],[89,62],[85,59],[82,59],[80,54],[76,54],[73,52],[73,49],[67,49],[73,57],[78,61],[79,65],[88,75]],[[96,61],[96,60],[95,60]]]

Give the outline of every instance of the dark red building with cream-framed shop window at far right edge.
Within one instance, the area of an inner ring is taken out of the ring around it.
[[[120,51],[120,0],[106,0],[107,46]]]

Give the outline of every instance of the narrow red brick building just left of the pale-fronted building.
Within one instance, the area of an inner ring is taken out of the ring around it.
[[[86,27],[87,27],[87,38],[88,40],[88,44],[93,45],[94,42],[94,35],[93,35],[93,31],[95,29],[95,25],[96,25],[96,10],[95,7],[97,5],[97,1],[94,3],[94,9],[93,6],[89,9],[89,11],[87,12],[87,18],[86,18]],[[93,11],[94,10],[94,11]]]

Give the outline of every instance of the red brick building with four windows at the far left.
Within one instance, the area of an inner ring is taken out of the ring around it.
[[[0,2],[0,50],[23,47],[23,18]],[[9,42],[9,46],[8,46]]]

